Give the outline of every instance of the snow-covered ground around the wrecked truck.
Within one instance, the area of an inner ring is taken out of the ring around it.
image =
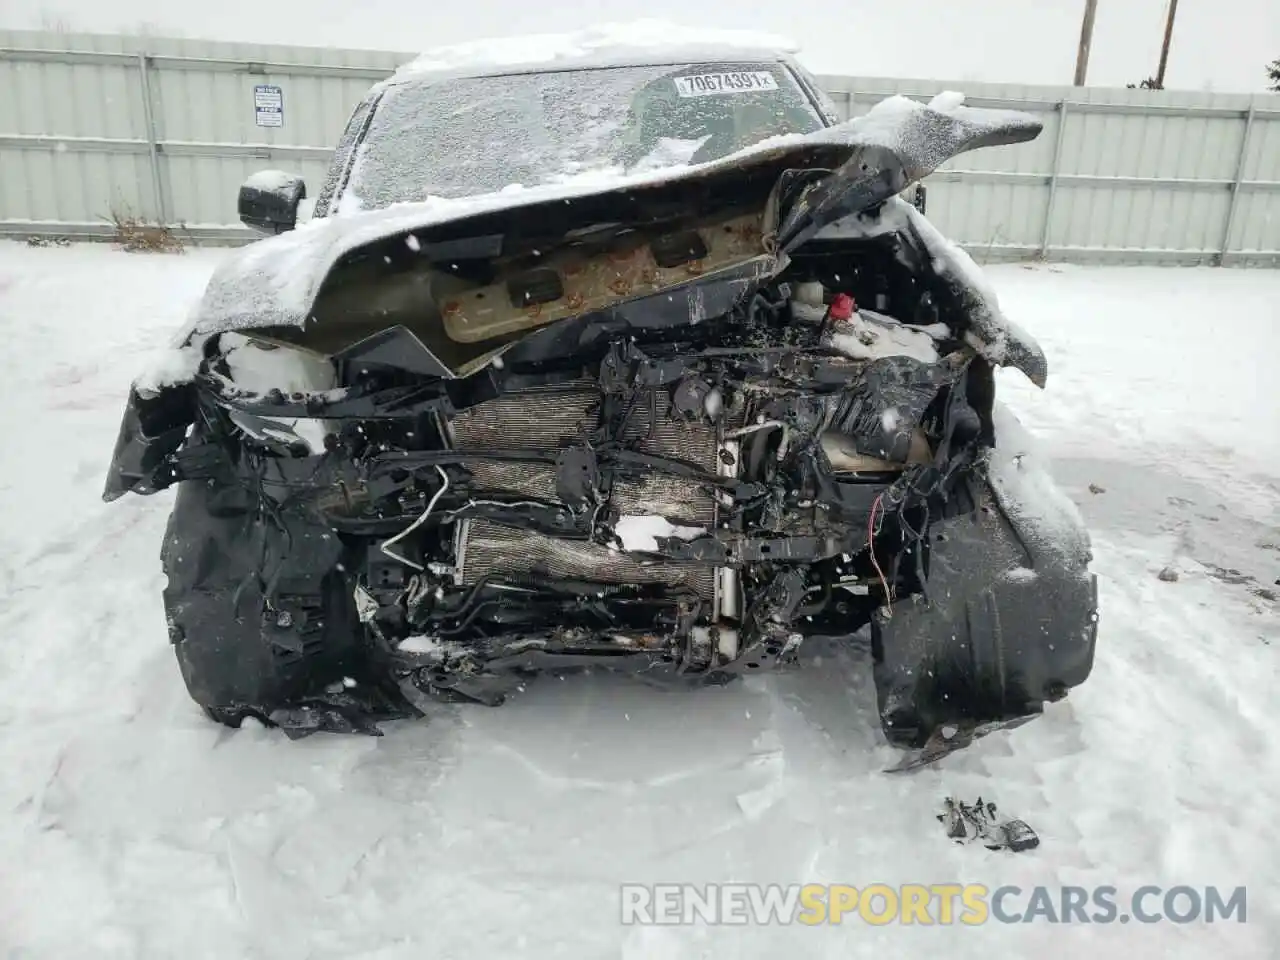
[[[0,956],[1275,956],[1280,274],[991,271],[1050,355],[1047,392],[1001,389],[1091,524],[1098,660],[891,777],[860,650],[692,695],[543,680],[380,740],[205,721],[160,608],[169,495],[99,493],[131,376],[220,256],[0,243]],[[947,794],[1041,847],[954,846]],[[620,925],[620,883],[672,881],[1244,884],[1249,914]]]

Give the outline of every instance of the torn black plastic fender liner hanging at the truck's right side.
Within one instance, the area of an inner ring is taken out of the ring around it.
[[[872,621],[891,744],[941,737],[963,746],[987,724],[1041,713],[1044,700],[1088,678],[1097,580],[1075,552],[1036,538],[986,485],[975,511],[934,522],[927,541],[924,593]]]

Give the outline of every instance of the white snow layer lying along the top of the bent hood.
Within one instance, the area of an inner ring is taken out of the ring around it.
[[[764,164],[788,152],[814,147],[883,146],[891,150],[919,151],[922,124],[916,114],[931,110],[933,124],[968,124],[972,128],[1000,129],[1025,124],[1025,114],[1009,110],[973,110],[959,102],[938,99],[925,108],[902,96],[890,97],[852,120],[813,133],[769,137],[744,150],[691,166],[668,166],[643,173],[598,170],[566,178],[559,183],[521,187],[512,184],[495,193],[457,200],[434,197],[426,201],[394,204],[378,210],[361,210],[319,218],[289,233],[241,248],[214,273],[198,305],[187,335],[261,326],[302,326],[315,303],[320,285],[333,266],[347,253],[381,239],[461,220],[497,210],[516,210],[549,200],[572,200],[621,188],[657,186],[701,177],[732,168]],[[938,108],[942,110],[938,110]],[[914,131],[914,133],[913,133]],[[904,138],[910,138],[906,142]],[[938,160],[941,163],[941,159]]]

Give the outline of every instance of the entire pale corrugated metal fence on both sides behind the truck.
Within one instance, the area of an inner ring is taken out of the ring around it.
[[[113,214],[248,238],[257,169],[324,178],[367,87],[408,54],[0,31],[0,234],[110,236]],[[1280,96],[823,77],[847,115],[961,90],[1044,115],[957,157],[929,216],[979,259],[1280,265]]]

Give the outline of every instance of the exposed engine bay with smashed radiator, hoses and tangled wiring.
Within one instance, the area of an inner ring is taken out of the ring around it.
[[[311,500],[417,687],[500,703],[600,658],[724,682],[919,589],[928,517],[989,442],[991,367],[893,242],[815,244],[704,317],[707,284],[744,282],[535,317],[466,376],[399,326],[294,383],[303,407],[340,394],[323,419],[239,389],[288,381],[303,347],[224,334],[209,422],[278,507]]]

